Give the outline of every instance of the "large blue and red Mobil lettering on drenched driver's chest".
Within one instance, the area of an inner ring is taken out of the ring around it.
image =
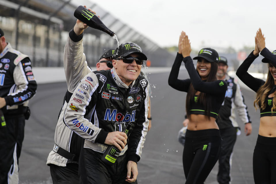
[[[109,121],[117,121],[117,122],[133,122],[135,119],[135,112],[136,110],[133,110],[131,115],[127,112],[126,115],[123,115],[122,113],[117,113],[117,109],[114,109],[112,112],[110,109],[106,109],[106,114],[104,115],[104,120]],[[117,114],[116,114],[117,113]]]

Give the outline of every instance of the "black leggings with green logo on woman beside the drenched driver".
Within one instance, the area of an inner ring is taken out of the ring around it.
[[[216,164],[220,151],[218,129],[187,130],[183,150],[185,184],[202,184]]]

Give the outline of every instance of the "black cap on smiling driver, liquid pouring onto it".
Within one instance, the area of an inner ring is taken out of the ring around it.
[[[137,53],[139,55],[139,59],[147,60],[147,56],[142,53],[142,49],[139,45],[132,42],[122,43],[119,47],[115,49],[114,59],[118,57],[126,57],[132,53]]]

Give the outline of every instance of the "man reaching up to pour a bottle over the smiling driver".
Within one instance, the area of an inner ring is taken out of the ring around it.
[[[85,75],[92,71],[87,65],[86,57],[83,53],[83,31],[86,28],[86,24],[77,20],[74,28],[69,32],[64,47],[64,70],[68,90],[57,120],[55,144],[47,158],[47,165],[50,166],[53,184],[79,183],[78,161],[84,139],[64,124],[63,116],[68,101],[78,83]],[[96,64],[97,70],[110,70],[113,67],[113,52],[114,50],[110,49],[100,57],[99,62]],[[79,91],[79,93],[85,92]],[[75,97],[74,100],[76,103],[82,103],[81,97]]]

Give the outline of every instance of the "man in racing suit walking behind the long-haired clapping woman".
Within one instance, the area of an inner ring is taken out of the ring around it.
[[[225,94],[224,102],[219,110],[218,127],[221,132],[222,149],[218,159],[217,180],[220,184],[228,184],[231,181],[230,168],[233,147],[237,138],[239,125],[235,121],[235,109],[239,113],[241,121],[245,124],[244,132],[250,135],[252,131],[250,117],[247,106],[244,104],[244,97],[237,81],[227,74],[227,59],[219,57],[218,61],[218,80],[225,80],[228,88]]]

